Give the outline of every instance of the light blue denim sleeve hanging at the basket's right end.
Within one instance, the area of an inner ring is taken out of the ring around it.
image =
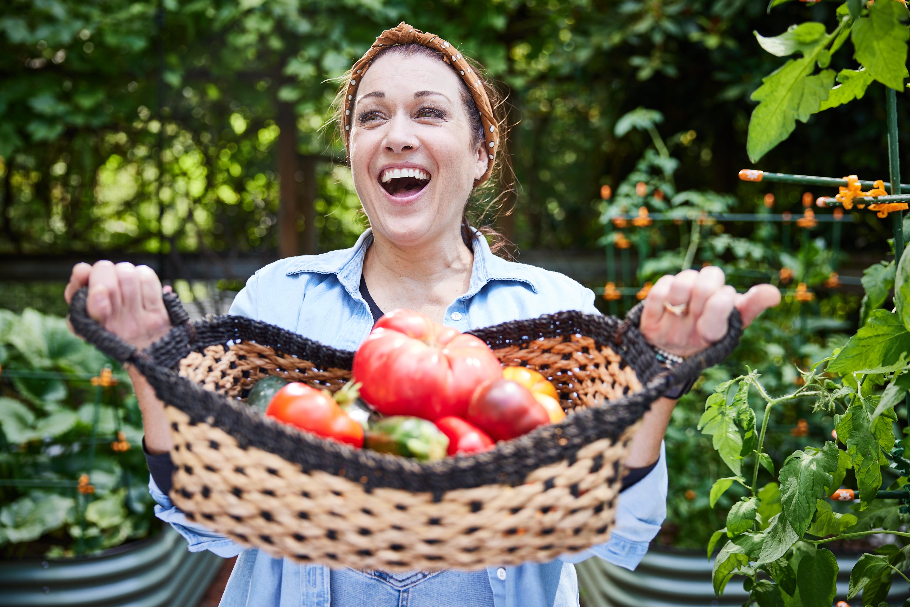
[[[599,556],[629,570],[642,561],[648,546],[661,531],[667,516],[667,454],[661,442],[661,456],[654,469],[626,491],[620,493],[616,507],[616,526],[610,540],[575,554],[560,558],[568,562],[581,562]]]

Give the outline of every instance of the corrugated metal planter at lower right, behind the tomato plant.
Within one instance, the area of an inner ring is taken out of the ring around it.
[[[859,555],[837,555],[837,598],[846,599],[850,572]],[[711,584],[713,561],[704,552],[669,551],[652,548],[634,572],[602,559],[588,559],[575,566],[584,607],[739,607],[748,598],[743,578],[727,584],[723,597],[714,595]],[[908,596],[903,580],[895,576],[888,595],[892,605]],[[860,603],[857,597],[852,604]]]

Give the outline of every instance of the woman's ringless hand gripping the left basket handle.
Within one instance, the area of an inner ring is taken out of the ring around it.
[[[66,303],[86,285],[88,316],[130,345],[144,349],[170,330],[161,281],[152,268],[110,261],[76,264],[66,285]]]

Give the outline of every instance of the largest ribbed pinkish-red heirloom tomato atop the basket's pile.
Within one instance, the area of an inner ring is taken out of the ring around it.
[[[395,309],[377,321],[354,355],[360,396],[384,415],[464,417],[481,383],[502,377],[499,359],[473,335]]]

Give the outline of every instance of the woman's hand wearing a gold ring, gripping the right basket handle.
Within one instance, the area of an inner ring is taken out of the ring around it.
[[[648,292],[642,335],[657,348],[691,356],[723,337],[733,308],[739,310],[745,327],[780,302],[780,291],[771,285],[756,285],[740,294],[724,284],[721,268],[687,269],[663,276]]]

